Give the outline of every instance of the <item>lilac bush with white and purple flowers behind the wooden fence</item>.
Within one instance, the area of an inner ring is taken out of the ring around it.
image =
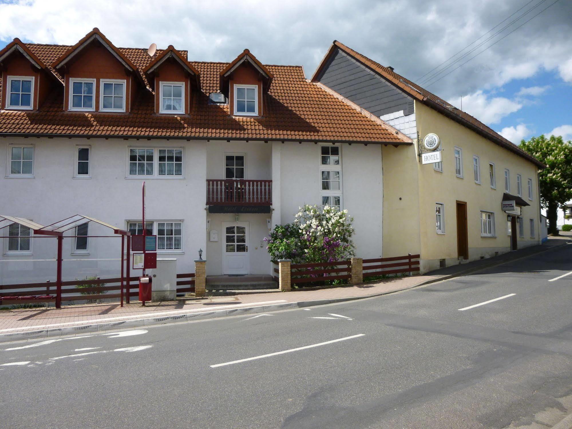
[[[265,239],[268,253],[273,262],[291,259],[295,264],[349,259],[355,255],[352,222],[348,210],[305,205],[293,223],[277,225]]]

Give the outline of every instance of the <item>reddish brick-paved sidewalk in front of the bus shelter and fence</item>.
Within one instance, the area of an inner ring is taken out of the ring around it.
[[[313,301],[345,297],[359,297],[413,287],[440,276],[398,277],[384,280],[380,283],[368,283],[356,286],[318,289],[313,291],[291,291],[272,293],[250,293],[235,296],[213,296],[201,300],[165,301],[147,303],[145,307],[140,302],[68,305],[61,309],[31,308],[0,311],[0,333],[27,331],[30,329],[58,328],[108,321],[132,320],[144,317],[176,315],[177,313],[213,311],[253,305],[272,305],[293,303],[298,301]]]

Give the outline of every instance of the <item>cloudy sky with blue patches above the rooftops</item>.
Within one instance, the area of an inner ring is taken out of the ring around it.
[[[98,27],[116,46],[173,45],[192,61],[248,48],[307,78],[336,39],[517,144],[572,140],[572,0],[0,0],[0,15],[0,46],[73,45]]]

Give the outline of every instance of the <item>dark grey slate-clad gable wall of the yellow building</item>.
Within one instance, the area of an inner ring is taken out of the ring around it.
[[[320,84],[334,90],[377,117],[403,110],[414,112],[414,101],[401,90],[349,57],[336,47],[316,77]]]

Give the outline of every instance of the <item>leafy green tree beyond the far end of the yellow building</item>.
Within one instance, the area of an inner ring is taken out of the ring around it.
[[[565,142],[562,136],[542,135],[522,140],[521,149],[546,165],[538,173],[541,203],[546,208],[548,232],[558,234],[558,209],[572,199],[572,142]]]

